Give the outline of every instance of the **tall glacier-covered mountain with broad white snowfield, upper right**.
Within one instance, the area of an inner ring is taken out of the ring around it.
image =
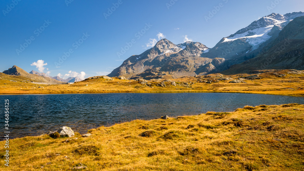
[[[278,33],[290,21],[303,15],[304,12],[293,12],[285,15],[272,13],[262,17],[246,28],[221,39],[215,47],[202,54],[202,57],[229,59],[223,63],[226,67],[244,62],[255,57],[264,46],[277,38]]]

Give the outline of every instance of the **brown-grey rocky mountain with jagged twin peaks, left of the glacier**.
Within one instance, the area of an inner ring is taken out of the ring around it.
[[[208,49],[199,42],[175,45],[167,39],[161,39],[153,48],[125,60],[108,76],[152,79],[209,74],[216,72],[219,63],[224,62],[225,59],[200,57]]]

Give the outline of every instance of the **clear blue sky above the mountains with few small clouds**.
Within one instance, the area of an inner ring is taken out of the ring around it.
[[[16,65],[53,77],[106,75],[161,38],[211,48],[260,17],[303,7],[302,0],[2,0],[0,71]]]

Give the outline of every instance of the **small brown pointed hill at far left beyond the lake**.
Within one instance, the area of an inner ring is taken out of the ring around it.
[[[7,75],[26,77],[29,80],[33,80],[35,82],[40,82],[40,83],[62,83],[61,81],[54,80],[50,77],[45,77],[45,76],[36,75],[36,74],[29,74],[25,70],[22,70],[21,68],[15,66],[15,65],[12,68],[9,68],[8,70],[3,71],[2,73],[7,74]]]

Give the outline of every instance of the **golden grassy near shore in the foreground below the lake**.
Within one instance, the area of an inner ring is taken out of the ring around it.
[[[0,170],[304,170],[304,105],[246,106],[231,113],[135,120],[9,142]],[[81,170],[81,169],[80,169]]]

